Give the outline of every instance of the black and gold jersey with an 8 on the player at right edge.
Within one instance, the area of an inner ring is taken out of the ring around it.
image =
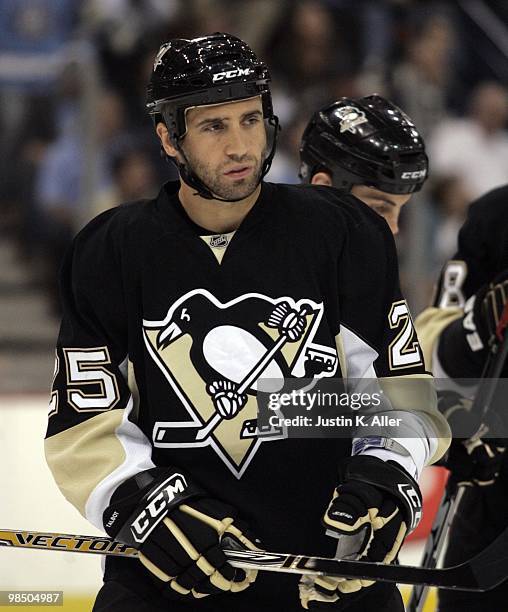
[[[464,314],[466,301],[508,268],[508,186],[475,200],[458,235],[458,249],[441,272],[433,305],[416,319],[429,369],[441,332]],[[444,372],[434,371],[435,375]],[[466,376],[464,374],[464,376]]]

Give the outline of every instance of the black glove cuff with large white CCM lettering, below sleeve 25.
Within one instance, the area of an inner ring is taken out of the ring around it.
[[[103,514],[106,533],[139,548],[171,510],[205,493],[175,468],[153,468],[122,483]]]

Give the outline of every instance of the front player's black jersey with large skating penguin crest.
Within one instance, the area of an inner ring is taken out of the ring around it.
[[[99,528],[120,483],[176,466],[237,507],[267,549],[332,555],[321,517],[351,443],[258,437],[249,373],[262,363],[274,379],[424,377],[393,238],[333,188],[264,183],[239,229],[223,235],[200,231],[177,192],[168,183],[154,200],[107,211],[74,240],[62,269],[48,464]],[[301,333],[273,352],[291,312],[304,315]],[[247,400],[234,418],[217,418],[210,389],[228,383]],[[392,405],[411,413],[430,462],[448,429],[428,397]],[[108,559],[106,577],[153,590],[136,560]],[[253,610],[299,608],[295,577],[260,575],[231,597],[235,610],[250,609],[249,598]],[[193,609],[226,609],[210,600]]]

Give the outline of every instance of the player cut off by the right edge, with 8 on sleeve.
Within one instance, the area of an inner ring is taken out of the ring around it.
[[[427,366],[436,378],[478,379],[482,374],[508,299],[507,198],[504,186],[471,204],[458,251],[441,273],[434,305],[416,321]],[[452,433],[457,424],[464,435],[464,424],[474,418],[470,405],[448,394],[443,413],[449,415]],[[448,538],[445,565],[454,565],[480,552],[506,528],[508,459],[504,448],[489,440],[474,447],[453,440],[446,466],[457,481],[469,485]],[[443,591],[439,610],[504,610],[507,597],[506,582],[481,594]]]

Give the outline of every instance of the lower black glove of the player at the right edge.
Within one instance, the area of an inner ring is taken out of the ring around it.
[[[505,452],[503,443],[506,443],[506,440],[466,440],[455,437],[458,432],[476,430],[479,424],[478,416],[472,414],[471,406],[471,400],[455,391],[438,393],[438,408],[450,424],[454,437],[448,452],[437,465],[450,470],[450,478],[458,485],[485,487],[496,481]]]

